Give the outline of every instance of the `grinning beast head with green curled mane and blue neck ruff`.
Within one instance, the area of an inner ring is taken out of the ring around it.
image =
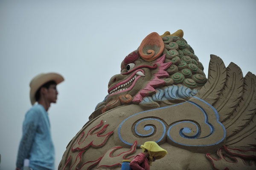
[[[188,100],[206,82],[204,67],[183,31],[149,34],[125,57],[121,73],[108,84],[108,95],[96,106],[101,112],[125,105],[160,107]]]

